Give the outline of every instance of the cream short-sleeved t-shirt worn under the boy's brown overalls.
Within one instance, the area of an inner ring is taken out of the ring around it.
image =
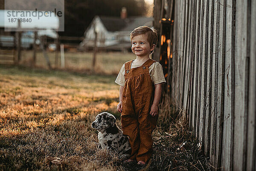
[[[133,64],[131,63],[131,68],[140,67],[142,64]],[[148,67],[148,72],[151,77],[151,80],[154,84],[165,83],[166,80],[163,75],[163,68],[159,62],[154,62],[150,67]],[[122,65],[119,74],[116,77],[116,84],[120,86],[125,86],[125,64]]]

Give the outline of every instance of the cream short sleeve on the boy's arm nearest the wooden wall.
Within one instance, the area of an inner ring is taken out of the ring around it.
[[[166,80],[163,75],[163,68],[159,62],[155,62],[154,69],[152,70],[152,81],[154,84],[165,83]]]

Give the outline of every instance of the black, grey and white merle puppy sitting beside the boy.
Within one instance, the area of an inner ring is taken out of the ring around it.
[[[115,116],[107,112],[99,113],[92,123],[92,128],[99,131],[99,148],[117,152],[118,158],[121,160],[130,157],[131,147],[129,139],[117,127]]]

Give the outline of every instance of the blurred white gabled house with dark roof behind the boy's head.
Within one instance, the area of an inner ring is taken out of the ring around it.
[[[138,26],[153,26],[153,17],[106,17],[95,16],[84,32],[79,49],[128,51],[131,49],[130,33]],[[95,39],[96,38],[96,39]]]

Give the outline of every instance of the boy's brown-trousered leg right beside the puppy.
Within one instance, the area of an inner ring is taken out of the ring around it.
[[[129,159],[135,160],[140,147],[139,123],[136,117],[131,114],[122,114],[121,124],[123,134],[129,136],[131,145],[131,157]]]

